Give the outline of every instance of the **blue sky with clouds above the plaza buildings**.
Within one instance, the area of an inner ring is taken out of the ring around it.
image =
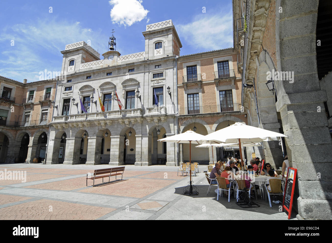
[[[169,19],[181,56],[233,46],[231,0],[1,1],[0,9],[0,75],[20,82],[61,71],[66,44],[90,40],[103,54],[112,29],[122,55],[144,51],[146,25]]]

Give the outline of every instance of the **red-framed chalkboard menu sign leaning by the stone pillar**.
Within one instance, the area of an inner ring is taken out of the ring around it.
[[[288,167],[283,201],[283,211],[285,209],[288,212],[288,219],[290,219],[291,207],[293,204],[296,172],[297,169]]]

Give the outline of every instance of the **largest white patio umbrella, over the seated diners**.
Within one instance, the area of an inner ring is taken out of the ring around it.
[[[242,164],[241,143],[259,143],[267,141],[276,141],[277,137],[287,137],[284,134],[265,130],[258,127],[248,126],[240,122],[215,131],[205,136],[210,143],[238,143],[240,148],[240,157]]]

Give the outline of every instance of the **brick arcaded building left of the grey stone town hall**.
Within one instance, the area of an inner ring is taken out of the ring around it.
[[[23,83],[0,76],[0,162],[44,160],[55,80]]]

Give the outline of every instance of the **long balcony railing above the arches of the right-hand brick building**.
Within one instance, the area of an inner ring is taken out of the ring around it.
[[[179,108],[179,115],[207,114],[207,113],[230,112],[230,111],[240,111],[240,110],[241,110],[240,103],[229,103],[221,105],[205,105],[205,106]]]

